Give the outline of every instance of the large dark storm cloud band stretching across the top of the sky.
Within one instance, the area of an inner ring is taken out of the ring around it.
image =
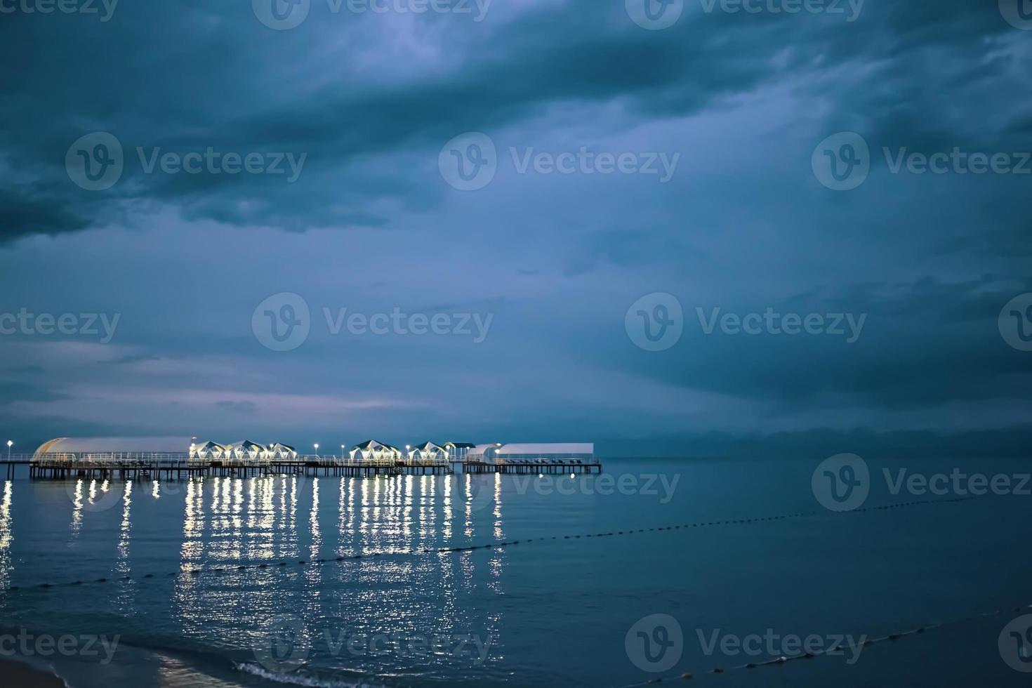
[[[840,108],[863,117],[885,142],[902,137],[921,148],[920,137],[935,135],[930,116],[933,125],[949,124],[934,118],[941,94],[991,79],[999,74],[994,62],[1005,60],[969,58],[1012,31],[995,8],[961,2],[869,2],[853,24],[688,10],[660,32],[627,21],[622,3],[565,2],[515,15],[498,10],[473,26],[427,15],[420,20],[426,28],[449,39],[442,68],[377,78],[375,69],[349,74],[347,50],[334,54],[341,65],[305,52],[319,40],[367,45],[359,32],[378,23],[382,30],[389,18],[314,15],[294,31],[269,32],[249,10],[247,3],[124,3],[106,24],[42,15],[5,22],[0,56],[23,67],[5,75],[0,101],[11,125],[0,155],[18,181],[5,191],[3,235],[111,219],[63,169],[70,142],[93,130],[115,133],[126,149],[125,175],[106,199],[287,229],[382,226],[375,206],[384,199],[416,210],[432,205],[442,191],[433,170],[413,169],[407,158],[432,156],[458,132],[515,126],[556,103],[618,101],[631,119],[684,116],[766,84],[843,70],[823,86],[837,92]],[[956,62],[948,73],[938,73],[937,51]],[[938,136],[954,140],[954,133]],[[136,146],[308,159],[296,184],[266,174],[143,174]]]

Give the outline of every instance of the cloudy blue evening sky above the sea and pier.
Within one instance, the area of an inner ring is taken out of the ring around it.
[[[26,450],[1028,451],[1018,0],[84,4],[0,3]]]

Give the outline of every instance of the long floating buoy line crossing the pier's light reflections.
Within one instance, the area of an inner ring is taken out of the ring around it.
[[[176,578],[176,577],[198,577],[201,575],[213,575],[213,576],[224,576],[227,574],[233,574],[245,570],[252,569],[263,569],[263,568],[287,568],[292,566],[310,566],[310,565],[320,565],[320,564],[332,564],[332,563],[344,563],[347,561],[361,561],[363,559],[375,559],[378,557],[391,557],[391,556],[427,556],[427,555],[442,555],[442,554],[453,554],[460,552],[475,552],[477,550],[492,550],[501,549],[507,547],[515,547],[517,545],[524,545],[529,543],[549,543],[556,540],[571,540],[571,539],[590,539],[598,537],[619,537],[626,535],[636,535],[649,532],[664,532],[673,530],[690,530],[692,528],[708,528],[714,526],[729,526],[729,525],[747,525],[752,523],[764,523],[771,521],[784,521],[789,519],[800,519],[808,518],[813,516],[833,516],[833,517],[848,517],[854,514],[873,513],[873,512],[886,512],[897,509],[909,509],[913,506],[923,505],[934,505],[934,504],[948,504],[956,503],[959,501],[968,501],[974,499],[975,497],[955,497],[952,499],[923,499],[923,500],[912,500],[912,501],[900,501],[891,504],[882,504],[878,506],[863,506],[860,509],[854,509],[850,512],[829,512],[827,510],[818,510],[812,512],[795,512],[792,514],[780,514],[778,516],[756,516],[751,518],[741,518],[741,519],[724,519],[716,521],[697,521],[695,523],[682,523],[679,525],[668,525],[668,526],[657,526],[653,528],[630,528],[624,530],[612,530],[609,532],[599,532],[599,533],[581,533],[575,535],[547,535],[544,537],[525,537],[521,539],[512,540],[496,540],[493,543],[488,543],[486,545],[465,545],[459,547],[440,547],[440,548],[419,548],[410,550],[397,550],[394,552],[373,552],[369,554],[355,554],[351,556],[338,556],[329,559],[284,559],[279,561],[262,561],[262,562],[225,562],[219,565],[212,566],[198,566],[195,568],[187,568],[174,570],[168,574],[146,574],[142,576],[122,576],[114,578],[98,578],[92,581],[66,581],[62,583],[38,583],[35,585],[19,586],[12,585],[7,588],[8,591],[25,591],[25,590],[40,590],[47,588],[66,588],[82,585],[99,585],[106,583],[140,583],[146,581],[154,581],[159,579]],[[3,592],[3,590],[0,590]]]

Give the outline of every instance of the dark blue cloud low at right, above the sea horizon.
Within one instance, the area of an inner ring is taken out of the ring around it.
[[[762,313],[769,305],[778,314],[866,315],[863,334],[852,345],[830,335],[707,335],[696,308],[708,318],[719,304],[684,300],[690,346],[647,360],[642,370],[685,388],[768,399],[780,409],[806,408],[835,396],[895,409],[986,400],[1028,409],[1032,360],[1000,339],[996,320],[1003,303],[1030,290],[1032,280],[1014,289],[992,275],[962,284],[928,277],[892,290],[820,290],[778,303],[722,308]],[[624,350],[618,365],[639,365],[641,359]]]

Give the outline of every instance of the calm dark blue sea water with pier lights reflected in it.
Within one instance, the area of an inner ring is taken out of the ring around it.
[[[76,688],[622,686],[770,656],[712,638],[830,643],[1006,609],[852,663],[846,652],[696,682],[1026,685],[998,642],[1013,608],[1032,603],[1032,496],[832,514],[811,491],[816,463],[607,460],[616,487],[462,474],[0,482],[0,650],[18,633],[65,636],[74,651],[35,659]],[[872,462],[872,474],[882,465],[1029,469]],[[915,498],[937,497],[894,495],[876,478],[866,505]],[[657,634],[652,615],[676,627]],[[100,636],[118,637],[109,663],[101,643],[86,651]]]

